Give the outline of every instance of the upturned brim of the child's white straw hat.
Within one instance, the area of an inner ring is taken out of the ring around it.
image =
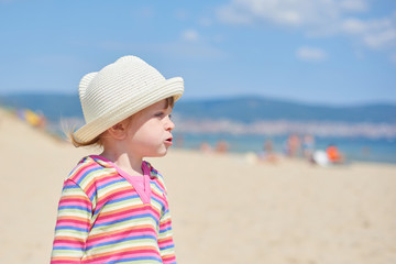
[[[112,125],[143,110],[144,108],[150,107],[155,102],[158,102],[168,97],[174,97],[175,101],[178,100],[183,92],[183,78],[175,77],[165,79],[162,85],[151,89],[148,92],[144,92],[133,98],[133,100],[124,101],[105,114],[82,125],[80,129],[74,132],[74,138],[79,143],[88,143]]]

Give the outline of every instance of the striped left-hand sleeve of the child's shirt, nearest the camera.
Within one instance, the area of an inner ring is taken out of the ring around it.
[[[62,191],[51,264],[80,263],[90,228],[92,204],[85,191],[67,179]]]

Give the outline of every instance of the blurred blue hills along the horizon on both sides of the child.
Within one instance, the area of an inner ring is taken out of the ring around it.
[[[0,97],[0,103],[38,110],[53,121],[61,117],[82,117],[77,95],[11,95]],[[182,99],[176,103],[174,112],[182,119],[227,119],[242,123],[258,120],[396,123],[396,105],[329,107],[260,97],[212,100]]]

